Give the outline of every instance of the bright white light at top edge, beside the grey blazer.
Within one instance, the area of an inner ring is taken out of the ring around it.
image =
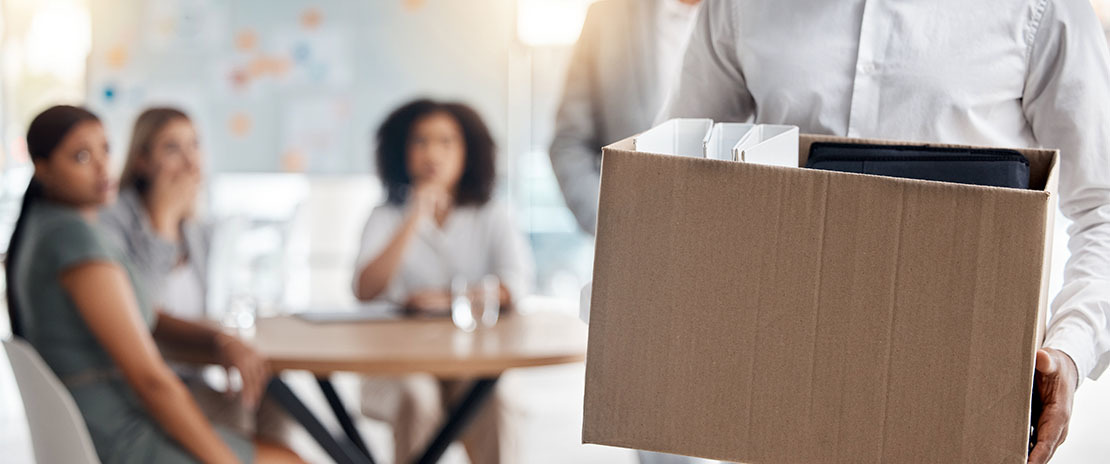
[[[578,40],[593,0],[517,0],[516,36],[529,47],[569,46]]]

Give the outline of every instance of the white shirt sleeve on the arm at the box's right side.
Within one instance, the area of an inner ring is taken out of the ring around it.
[[[1037,142],[1060,150],[1060,210],[1072,221],[1045,346],[1098,379],[1110,363],[1110,57],[1090,3],[1042,4],[1022,104]]]

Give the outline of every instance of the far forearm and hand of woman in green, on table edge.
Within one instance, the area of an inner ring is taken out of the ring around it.
[[[234,367],[243,380],[243,403],[250,407],[259,404],[270,382],[270,366],[265,357],[242,340],[208,324],[178,319],[163,312],[158,313],[153,335],[159,342],[216,356],[220,364],[228,369],[229,377]],[[228,387],[231,389],[230,383]]]

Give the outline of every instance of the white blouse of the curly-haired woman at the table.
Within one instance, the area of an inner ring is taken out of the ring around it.
[[[382,253],[405,214],[404,206],[393,204],[380,205],[370,214],[355,261],[355,293],[362,269]],[[442,228],[435,221],[422,221],[404,250],[401,268],[379,299],[404,303],[420,291],[450,291],[455,276],[474,283],[492,274],[518,301],[531,291],[533,272],[532,252],[516,231],[508,208],[490,201],[482,206],[455,208]]]

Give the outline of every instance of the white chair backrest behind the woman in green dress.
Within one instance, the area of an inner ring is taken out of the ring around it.
[[[19,339],[4,340],[3,347],[23,399],[34,461],[40,464],[99,464],[81,411],[39,353]]]

